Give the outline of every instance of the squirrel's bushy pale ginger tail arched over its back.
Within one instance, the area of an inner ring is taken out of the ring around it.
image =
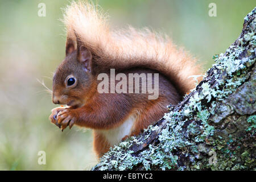
[[[88,1],[72,2],[65,9],[64,24],[68,38],[76,40],[76,32],[84,46],[97,56],[97,64],[102,68],[154,69],[166,75],[181,94],[195,87],[195,80],[188,77],[200,75],[199,65],[167,36],[147,28],[110,31],[106,15]]]

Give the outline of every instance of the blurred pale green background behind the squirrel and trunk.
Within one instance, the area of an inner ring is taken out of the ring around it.
[[[46,4],[46,17],[38,4]],[[208,15],[216,3],[217,16]],[[151,27],[169,35],[208,69],[240,35],[251,1],[107,1],[98,4],[115,27]],[[0,169],[82,170],[97,163],[92,131],[77,127],[63,133],[48,116],[56,107],[36,80],[52,88],[52,73],[64,59],[65,31],[59,19],[69,1],[0,1]],[[46,165],[38,152],[46,152]]]

